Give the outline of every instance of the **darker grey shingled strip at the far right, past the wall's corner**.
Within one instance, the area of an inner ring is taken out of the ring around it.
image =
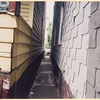
[[[87,98],[100,98],[100,2],[91,3]]]

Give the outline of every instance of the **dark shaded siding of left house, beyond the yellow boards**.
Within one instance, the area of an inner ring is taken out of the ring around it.
[[[44,12],[43,12],[44,11]],[[45,29],[45,3],[34,2],[30,63],[43,52]]]

